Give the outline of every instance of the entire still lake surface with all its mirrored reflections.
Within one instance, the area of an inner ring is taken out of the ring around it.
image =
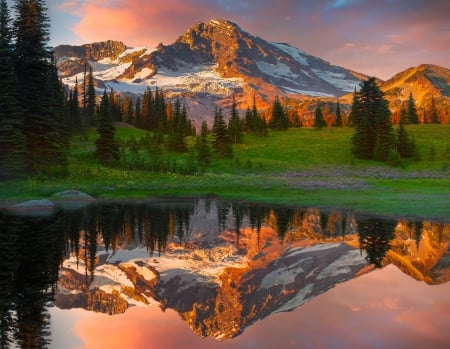
[[[1,348],[448,348],[450,224],[217,199],[0,213]]]

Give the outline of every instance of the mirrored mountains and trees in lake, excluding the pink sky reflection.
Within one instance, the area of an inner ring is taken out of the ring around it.
[[[108,314],[158,304],[200,336],[231,338],[392,263],[450,278],[449,224],[215,199],[0,213],[1,348],[46,347],[48,306]]]

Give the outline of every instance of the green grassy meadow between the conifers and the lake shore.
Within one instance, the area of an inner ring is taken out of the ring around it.
[[[213,159],[205,172],[189,171],[192,154],[126,152],[115,167],[93,156],[87,140],[74,138],[66,178],[27,178],[0,183],[0,200],[11,203],[78,189],[101,198],[217,195],[296,206],[341,207],[383,215],[450,220],[450,125],[410,125],[421,153],[397,168],[354,160],[348,128],[271,131],[268,137],[246,135],[233,159]],[[145,132],[119,127],[121,140]],[[189,141],[193,144],[193,140]],[[152,171],[155,158],[170,164]],[[153,159],[153,160],[152,160]],[[138,164],[139,166],[136,166]],[[191,173],[192,172],[192,173]]]

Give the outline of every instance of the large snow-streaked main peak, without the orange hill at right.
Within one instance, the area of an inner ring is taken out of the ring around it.
[[[286,43],[253,36],[227,20],[189,28],[174,43],[153,50],[108,41],[54,49],[64,83],[83,79],[85,64],[99,88],[143,93],[150,86],[168,94],[213,102],[238,99],[271,103],[275,96],[338,97],[352,92],[362,74],[314,57]],[[251,97],[251,98],[249,98]],[[249,98],[249,99],[247,99]]]

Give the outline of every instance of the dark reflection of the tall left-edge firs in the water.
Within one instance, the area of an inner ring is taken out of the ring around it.
[[[54,300],[65,252],[61,214],[18,217],[0,213],[1,344],[21,348],[50,342],[47,306]]]

